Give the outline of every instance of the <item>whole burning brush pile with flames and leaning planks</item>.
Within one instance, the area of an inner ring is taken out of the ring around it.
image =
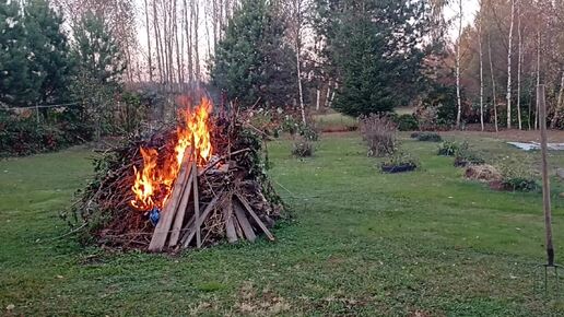
[[[96,177],[73,206],[85,237],[150,251],[255,240],[280,218],[262,140],[238,109],[212,114],[188,99],[176,127],[136,138],[96,160]]]

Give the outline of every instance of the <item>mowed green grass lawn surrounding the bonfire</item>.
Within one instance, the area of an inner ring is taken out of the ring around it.
[[[494,139],[469,140],[494,156],[538,160]],[[0,162],[1,314],[564,314],[554,292],[543,291],[540,193],[494,192],[465,180],[453,158],[435,155],[435,143],[403,140],[423,166],[402,175],[380,174],[356,133],[324,136],[309,160],[291,157],[291,146],[269,144],[272,177],[293,214],[274,230],[275,243],[176,257],[56,238],[67,232],[57,212],[91,173],[87,151]],[[557,190],[554,207],[562,255]]]

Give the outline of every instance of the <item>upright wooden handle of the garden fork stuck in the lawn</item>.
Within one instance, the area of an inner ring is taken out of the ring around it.
[[[542,200],[544,203],[544,230],[547,243],[547,266],[554,267],[554,246],[552,244],[552,211],[550,203],[550,179],[548,163],[548,137],[547,137],[547,103],[544,99],[544,85],[537,86],[537,107],[539,108],[539,120],[541,129],[541,152],[542,152]]]

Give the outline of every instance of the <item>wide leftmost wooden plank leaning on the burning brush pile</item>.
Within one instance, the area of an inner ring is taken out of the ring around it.
[[[188,164],[188,156],[189,152],[187,149],[184,154],[183,165],[180,165],[180,172],[178,173],[178,177],[176,178],[175,185],[173,187],[173,193],[166,201],[165,208],[161,213],[161,220],[158,221],[153,236],[151,237],[151,243],[149,244],[150,251],[162,251],[166,243],[166,237],[171,231],[171,225],[173,224],[178,201],[180,199],[180,195],[183,193],[183,187],[185,186],[186,178],[188,177],[188,166],[190,165]]]

